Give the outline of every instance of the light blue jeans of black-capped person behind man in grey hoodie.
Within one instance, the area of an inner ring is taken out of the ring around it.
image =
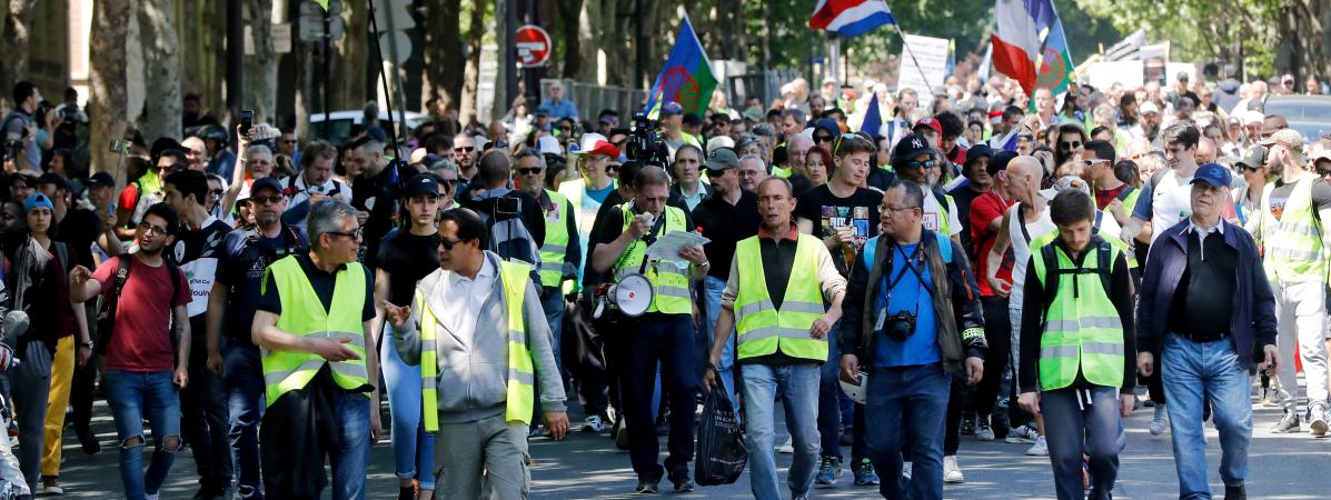
[[[422,491],[434,489],[434,432],[425,432],[421,408],[421,366],[407,364],[398,355],[391,326],[385,324],[379,348],[379,366],[387,387],[389,412],[393,415],[393,459],[398,479],[419,479]],[[433,380],[431,380],[433,382]],[[438,408],[429,408],[438,411]]]

